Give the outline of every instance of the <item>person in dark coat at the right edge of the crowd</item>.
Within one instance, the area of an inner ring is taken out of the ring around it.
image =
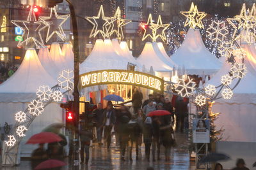
[[[188,114],[187,103],[183,101],[183,97],[177,97],[176,106],[175,106],[175,115],[176,115],[176,129],[180,128],[180,132],[184,130],[184,119]]]

